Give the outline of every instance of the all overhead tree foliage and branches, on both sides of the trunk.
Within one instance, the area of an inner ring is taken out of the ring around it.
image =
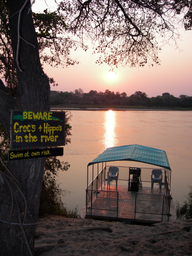
[[[33,8],[33,7],[32,7]],[[94,53],[101,53],[97,63],[111,67],[159,64],[158,52],[170,38],[178,37],[178,23],[185,29],[192,24],[190,0],[88,0],[61,1],[54,11],[33,12],[41,63],[68,66],[79,62],[71,58],[71,49],[87,50],[85,39],[91,39]],[[7,0],[0,6],[0,74],[12,94],[17,92],[17,78],[12,56]],[[177,14],[181,14],[175,16]],[[74,36],[75,34],[75,36]],[[161,39],[159,45],[158,39]],[[57,85],[53,78],[49,79]]]

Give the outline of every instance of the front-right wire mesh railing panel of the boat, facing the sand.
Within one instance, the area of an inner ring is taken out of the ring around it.
[[[169,214],[170,196],[136,194],[135,213]]]

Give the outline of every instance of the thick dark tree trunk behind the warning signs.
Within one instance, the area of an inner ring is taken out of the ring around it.
[[[49,80],[41,68],[38,52],[38,41],[35,33],[33,18],[30,10],[30,1],[8,0],[10,11],[10,30],[12,38],[12,50],[18,78],[18,94],[14,97],[0,90],[0,123],[10,133],[11,109],[19,110],[49,110]],[[21,10],[21,11],[20,11]],[[20,11],[20,12],[19,12]],[[29,13],[28,13],[29,12]],[[20,17],[20,19],[19,19]],[[19,29],[18,29],[19,27]],[[19,31],[19,32],[18,32]],[[20,39],[18,40],[18,37]],[[18,52],[18,54],[17,54]],[[16,64],[16,59],[19,64]],[[3,85],[0,84],[2,89]],[[4,182],[0,180],[0,254],[31,255],[27,249],[26,237],[31,250],[34,251],[34,231],[38,219],[39,197],[41,193],[44,174],[45,158],[24,159],[8,161],[7,167],[18,180],[11,180],[11,174],[5,171]],[[14,192],[11,193],[10,191]],[[27,211],[25,210],[26,198]],[[12,195],[12,196],[11,196]],[[16,199],[15,199],[16,196]],[[12,206],[12,202],[13,206]],[[18,202],[18,207],[16,206]],[[8,225],[9,217],[12,215]],[[20,219],[26,214],[22,226]],[[18,224],[13,224],[18,223]],[[26,237],[25,237],[26,233]]]

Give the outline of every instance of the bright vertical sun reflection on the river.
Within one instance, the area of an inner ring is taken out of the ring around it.
[[[117,134],[116,134],[116,113],[113,110],[105,112],[105,133],[103,135],[103,146],[106,148],[114,147],[117,145]]]

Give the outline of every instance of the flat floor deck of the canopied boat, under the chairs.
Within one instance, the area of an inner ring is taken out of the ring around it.
[[[82,218],[97,218],[97,219],[111,219],[117,221],[128,221],[128,222],[147,222],[147,223],[157,223],[162,221],[161,214],[144,214],[144,213],[136,213],[136,217],[134,219],[135,213],[135,194],[142,193],[146,195],[164,195],[164,186],[162,185],[162,191],[159,187],[154,187],[151,191],[150,187],[143,187],[139,189],[139,191],[128,191],[127,185],[122,185],[121,182],[118,182],[117,190],[115,182],[111,182],[110,186],[107,189],[107,185],[102,185],[102,191],[118,191],[118,215],[117,211],[109,211],[109,210],[99,210],[93,209],[92,212],[89,209],[84,207],[82,209]],[[97,197],[97,203],[99,200],[103,200],[103,197]],[[158,202],[157,202],[158,203]],[[144,207],[151,207],[151,202],[145,203]],[[117,217],[118,216],[118,217]],[[173,199],[171,199],[170,205],[170,215],[169,220],[167,215],[163,215],[163,221],[176,221],[176,211],[174,207]]]

